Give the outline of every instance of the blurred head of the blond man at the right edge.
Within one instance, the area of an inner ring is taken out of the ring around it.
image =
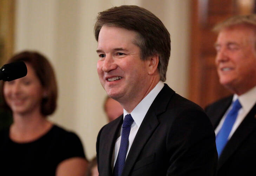
[[[240,96],[256,86],[256,15],[231,17],[214,31],[219,82]]]

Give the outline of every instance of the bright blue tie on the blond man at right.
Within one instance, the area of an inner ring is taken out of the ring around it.
[[[226,143],[228,142],[228,136],[229,133],[236,121],[238,111],[241,108],[241,104],[239,103],[239,100],[237,99],[233,103],[232,109],[228,112],[226,119],[224,120],[224,123],[221,127],[221,130],[216,136],[216,147],[218,156],[221,156],[222,150],[224,149]]]

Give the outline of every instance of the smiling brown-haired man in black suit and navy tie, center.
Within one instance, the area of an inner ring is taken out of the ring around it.
[[[171,48],[163,23],[144,8],[120,6],[100,12],[94,29],[100,83],[124,108],[98,134],[99,175],[214,175],[210,120],[163,83]]]

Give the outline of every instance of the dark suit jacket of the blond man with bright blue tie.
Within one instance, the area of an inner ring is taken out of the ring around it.
[[[221,99],[206,107],[206,114],[216,128],[232,102]],[[256,104],[231,136],[218,160],[218,176],[256,175]]]

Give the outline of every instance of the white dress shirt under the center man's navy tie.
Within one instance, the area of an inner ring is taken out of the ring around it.
[[[131,131],[129,135],[129,146],[127,149],[126,157],[130,151],[130,148],[132,146],[132,142],[138,132],[138,129],[140,127],[140,124],[142,123],[147,111],[149,110],[149,107],[155,100],[158,93],[163,89],[164,83],[162,81],[159,81],[157,85],[149,92],[149,94],[146,95],[145,98],[143,98],[140,103],[132,110],[131,116],[134,120],[134,122],[131,125]],[[125,115],[129,114],[127,111],[124,110],[124,117]],[[120,131],[120,136],[116,140],[116,144],[113,151],[113,157],[112,157],[112,169],[114,168],[114,165],[117,161],[117,155],[119,152],[120,142],[121,142],[121,134],[122,134],[122,128]]]

